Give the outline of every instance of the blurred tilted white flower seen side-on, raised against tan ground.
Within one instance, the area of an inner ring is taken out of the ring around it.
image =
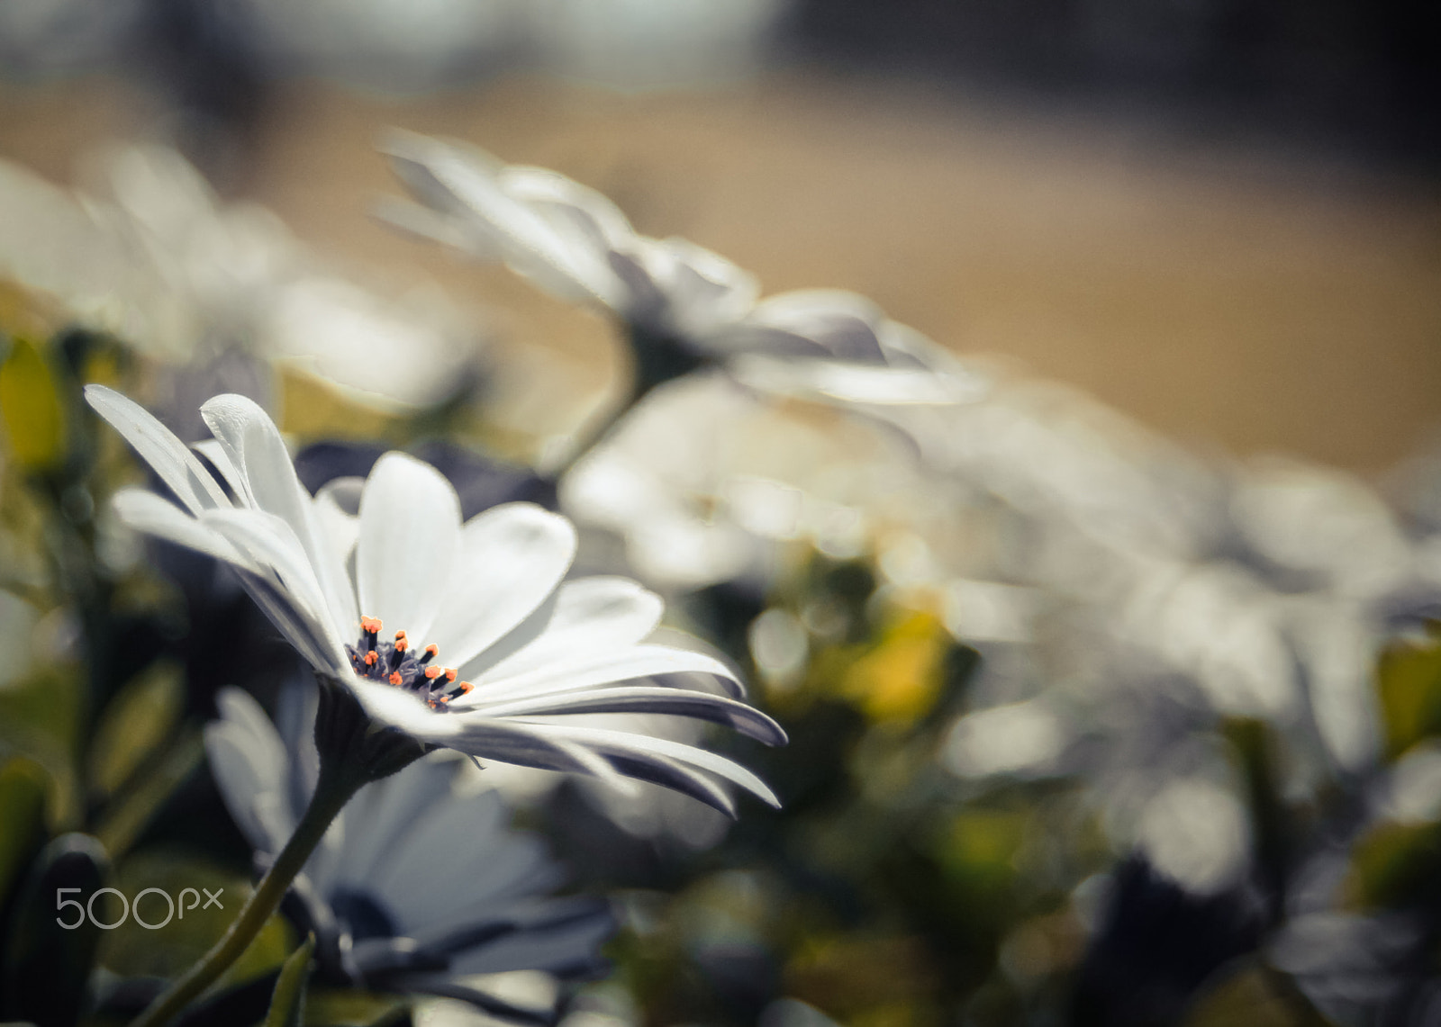
[[[391,205],[389,220],[615,313],[638,362],[656,364],[643,376],[720,362],[765,392],[857,403],[953,403],[980,392],[950,353],[867,300],[807,290],[757,302],[755,279],[723,256],[640,235],[607,197],[563,174],[424,135],[393,134],[388,150],[424,205]],[[657,344],[664,353],[647,351]]]

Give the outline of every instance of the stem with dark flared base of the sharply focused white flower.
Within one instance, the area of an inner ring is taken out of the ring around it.
[[[320,750],[316,792],[295,825],[295,833],[220,941],[156,998],[131,1027],[161,1027],[170,1023],[229,969],[269,920],[295,874],[354,794],[363,785],[395,773],[422,755],[418,745],[398,732],[376,730],[344,687],[323,677],[320,709],[316,713],[316,748]]]

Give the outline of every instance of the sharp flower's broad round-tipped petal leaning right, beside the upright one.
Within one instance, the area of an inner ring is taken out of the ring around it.
[[[535,612],[574,557],[565,517],[533,503],[487,510],[465,524],[444,605],[416,641],[435,642],[451,667],[470,661]]]

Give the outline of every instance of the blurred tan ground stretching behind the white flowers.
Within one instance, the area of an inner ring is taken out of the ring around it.
[[[56,181],[144,137],[91,75],[0,86],[0,156]],[[769,73],[621,91],[530,75],[380,98],[285,82],[232,196],[403,287],[438,279],[501,338],[614,360],[605,327],[373,222],[391,125],[555,167],[767,292],[843,287],[963,351],[1092,392],[1182,441],[1383,470],[1441,425],[1441,190],[1320,148],[1202,144],[941,85]]]

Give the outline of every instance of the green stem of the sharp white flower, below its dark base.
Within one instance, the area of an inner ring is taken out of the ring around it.
[[[161,1024],[170,1023],[196,995],[210,987],[231,964],[241,958],[241,954],[249,948],[255,935],[261,932],[271,913],[280,906],[280,900],[285,897],[290,883],[305,866],[310,854],[316,851],[316,846],[320,844],[336,814],[363,784],[362,775],[346,773],[337,765],[321,765],[316,794],[311,797],[304,817],[300,818],[300,824],[295,825],[295,834],[275,857],[275,863],[261,879],[235,923],[195,967],[186,971],[184,977],[156,998],[131,1023],[131,1027],[161,1027]]]

